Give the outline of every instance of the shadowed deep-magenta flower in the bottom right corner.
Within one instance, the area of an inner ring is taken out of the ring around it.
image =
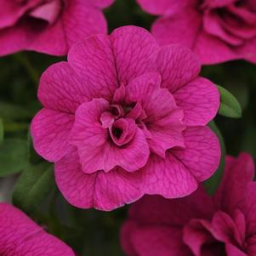
[[[122,247],[129,256],[256,255],[256,182],[253,159],[226,158],[213,197],[194,194],[167,200],[145,196],[129,210]]]

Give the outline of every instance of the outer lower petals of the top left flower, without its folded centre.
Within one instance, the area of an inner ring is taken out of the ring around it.
[[[100,9],[83,0],[66,1],[65,9],[53,25],[42,27],[40,20],[20,20],[15,26],[0,31],[0,54],[21,49],[45,54],[65,55],[74,43],[88,36],[107,32]]]

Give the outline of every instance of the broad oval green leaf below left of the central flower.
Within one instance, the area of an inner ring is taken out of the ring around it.
[[[28,167],[18,179],[13,193],[14,205],[26,213],[33,213],[54,186],[54,166],[43,162]]]

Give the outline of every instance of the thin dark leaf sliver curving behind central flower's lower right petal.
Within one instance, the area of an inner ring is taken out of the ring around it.
[[[224,168],[225,168],[225,142],[224,139],[222,137],[222,134],[219,131],[219,128],[217,127],[217,125],[215,124],[214,121],[210,122],[208,124],[209,128],[212,129],[213,133],[216,134],[219,138],[219,143],[220,143],[220,148],[221,148],[221,158],[220,158],[220,162],[219,162],[219,168],[217,169],[217,171],[213,174],[213,176],[206,180],[204,182],[204,186],[206,191],[208,191],[208,194],[213,195],[213,193],[217,190],[219,182],[222,178],[222,174],[224,172]]]

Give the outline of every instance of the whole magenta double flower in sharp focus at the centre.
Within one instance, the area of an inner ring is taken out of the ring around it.
[[[67,201],[111,210],[144,194],[185,196],[208,179],[219,165],[206,127],[219,92],[199,71],[189,49],[160,48],[135,26],[88,37],[50,66],[31,134]]]

